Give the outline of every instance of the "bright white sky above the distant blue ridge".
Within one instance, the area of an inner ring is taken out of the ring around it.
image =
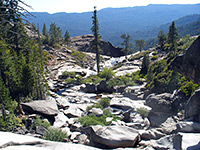
[[[200,0],[23,0],[32,6],[30,12],[67,12],[81,13],[93,11],[94,6],[97,10],[112,7],[134,7],[146,6],[148,4],[197,4]]]

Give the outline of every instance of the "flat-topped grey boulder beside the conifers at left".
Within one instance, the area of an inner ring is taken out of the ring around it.
[[[58,114],[58,107],[55,100],[38,100],[28,103],[21,103],[22,108],[27,113],[38,113],[49,116],[55,116]]]

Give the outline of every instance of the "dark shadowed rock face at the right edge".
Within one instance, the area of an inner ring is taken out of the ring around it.
[[[171,68],[200,84],[200,36],[171,63]]]

